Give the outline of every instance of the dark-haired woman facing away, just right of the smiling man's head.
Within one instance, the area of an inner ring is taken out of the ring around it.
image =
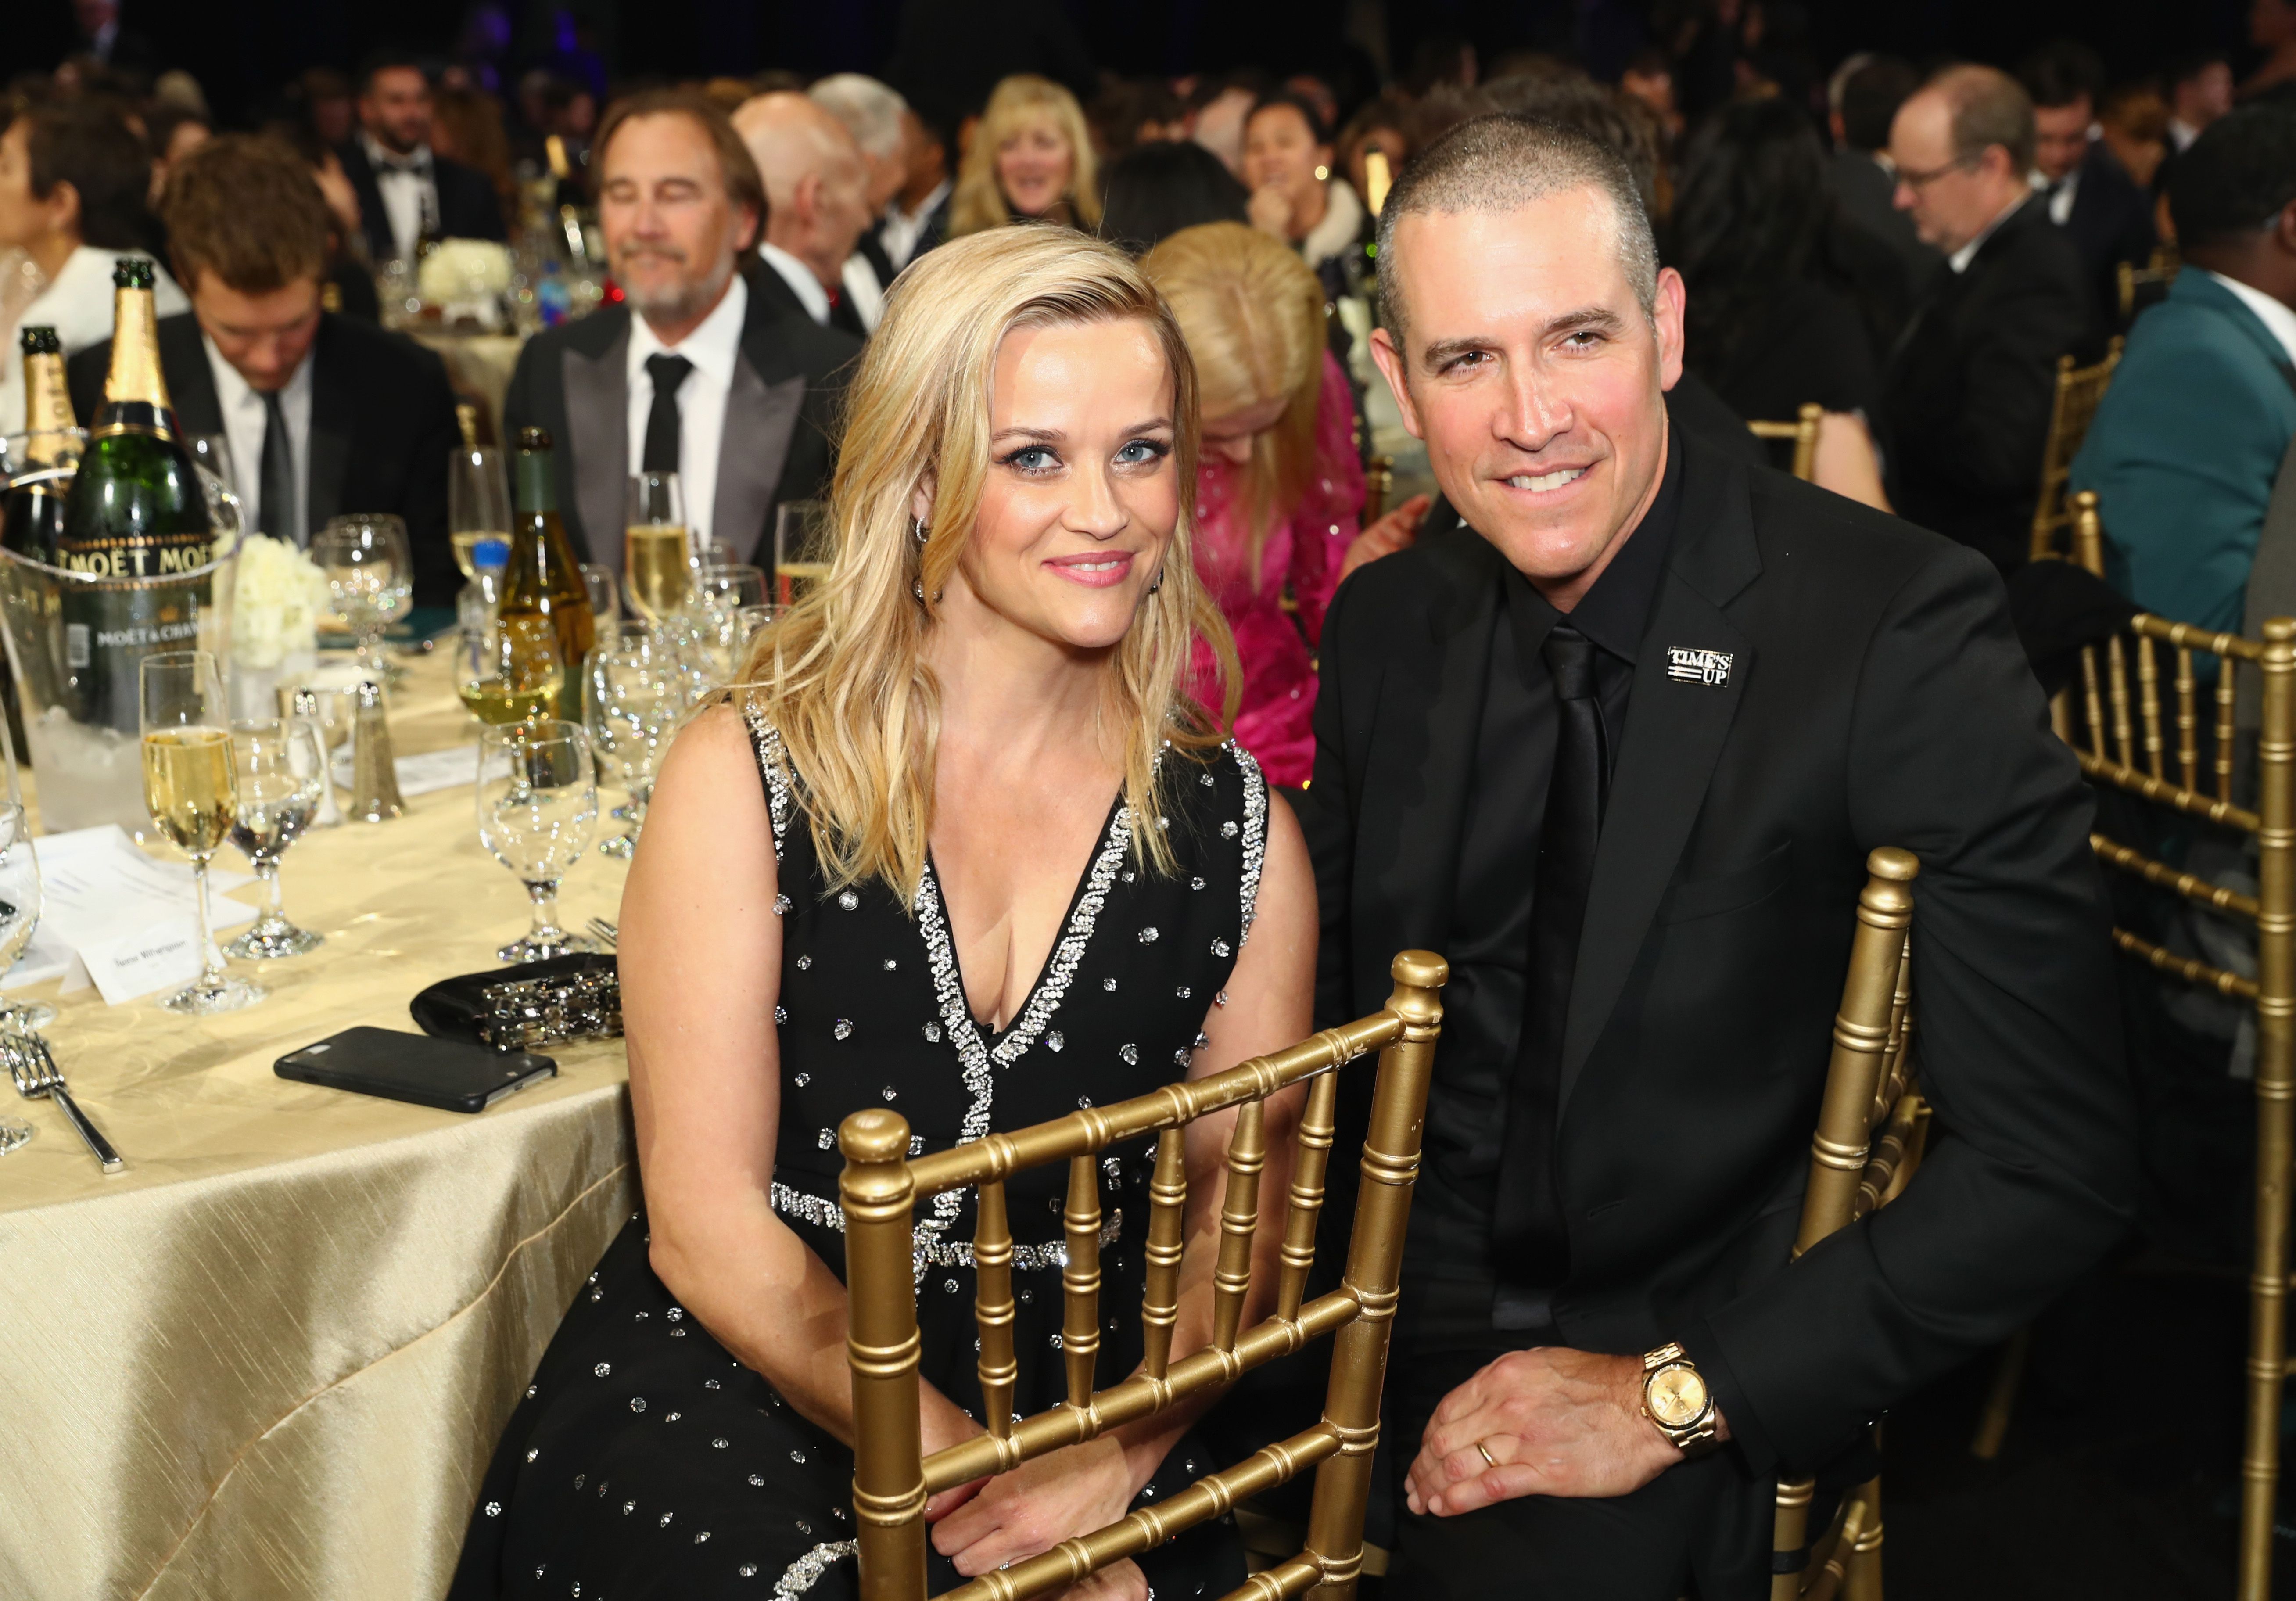
[[[1699,129],[1674,198],[1683,361],[1747,420],[1805,402],[1871,411],[1874,342],[1839,262],[1825,152],[1779,99],[1740,101]]]

